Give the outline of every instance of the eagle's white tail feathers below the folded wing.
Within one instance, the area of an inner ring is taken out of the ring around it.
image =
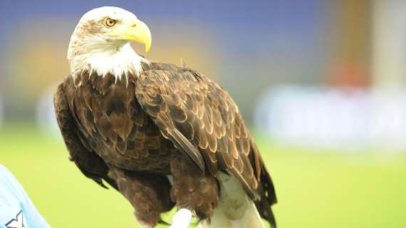
[[[211,222],[201,222],[201,228],[263,228],[259,212],[254,202],[249,199],[244,190],[232,177],[223,173],[218,176],[221,195],[219,205],[214,209]]]

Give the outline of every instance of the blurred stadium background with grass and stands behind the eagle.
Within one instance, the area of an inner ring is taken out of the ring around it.
[[[105,5],[150,26],[139,53],[229,90],[280,227],[405,227],[406,1],[0,1],[0,163],[51,226],[136,227],[123,197],[68,162],[53,120],[73,28]]]

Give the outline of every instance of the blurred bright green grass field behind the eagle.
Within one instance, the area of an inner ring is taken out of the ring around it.
[[[276,185],[279,227],[405,227],[405,153],[305,151],[256,138]],[[85,178],[58,137],[6,125],[0,163],[52,227],[137,227],[124,197]]]

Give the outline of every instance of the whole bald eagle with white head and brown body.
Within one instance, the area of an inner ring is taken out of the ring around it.
[[[116,7],[88,11],[73,31],[71,74],[54,96],[70,160],[123,194],[142,227],[175,205],[204,227],[275,227],[274,185],[229,94],[130,41],[148,51],[150,30]]]

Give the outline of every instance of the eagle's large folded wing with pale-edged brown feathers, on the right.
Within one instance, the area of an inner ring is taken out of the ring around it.
[[[137,79],[138,102],[160,131],[202,170],[222,170],[256,198],[259,152],[229,94],[189,68],[149,70]]]

